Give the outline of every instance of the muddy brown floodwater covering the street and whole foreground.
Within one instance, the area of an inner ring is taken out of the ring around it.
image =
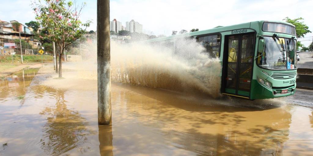
[[[0,155],[313,152],[312,109],[287,98],[212,100],[113,83],[112,125],[98,126],[95,80],[54,80],[37,71],[0,80]]]

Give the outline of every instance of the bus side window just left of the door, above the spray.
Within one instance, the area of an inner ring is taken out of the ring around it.
[[[210,57],[216,58],[220,56],[221,37],[219,34],[198,37],[197,41],[202,43]]]

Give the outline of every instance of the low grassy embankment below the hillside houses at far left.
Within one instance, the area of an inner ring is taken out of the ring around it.
[[[53,56],[43,55],[43,61],[53,61]],[[0,56],[0,64],[11,64],[13,58],[13,64],[20,64],[21,63],[21,55],[5,55]],[[41,62],[41,55],[23,55],[23,63],[39,63]]]

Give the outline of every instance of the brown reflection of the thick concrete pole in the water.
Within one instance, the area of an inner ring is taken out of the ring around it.
[[[101,156],[113,156],[112,125],[99,125],[99,150]]]

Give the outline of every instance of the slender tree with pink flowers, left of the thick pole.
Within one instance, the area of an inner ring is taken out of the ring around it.
[[[43,3],[44,2],[44,3]],[[65,0],[37,0],[33,2],[33,10],[36,20],[47,33],[42,36],[45,39],[54,41],[59,54],[59,77],[62,77],[62,54],[64,49],[79,39],[91,21],[85,23],[80,21],[82,9],[86,3],[77,5],[74,1]],[[82,28],[85,27],[85,28]]]

